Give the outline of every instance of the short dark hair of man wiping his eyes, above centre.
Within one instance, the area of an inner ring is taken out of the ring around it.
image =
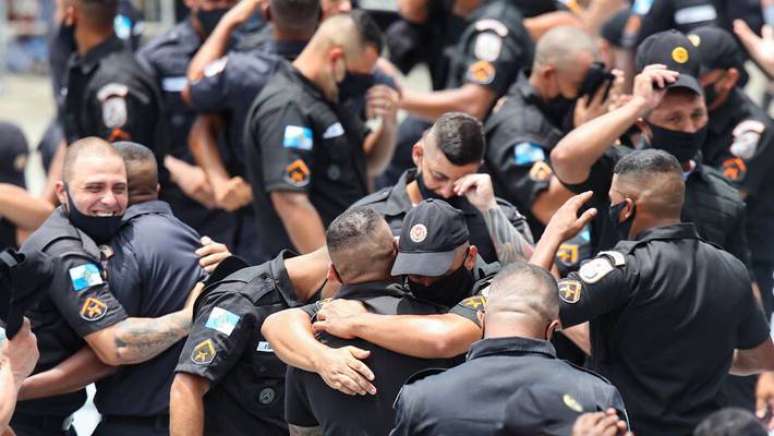
[[[475,117],[462,112],[448,112],[430,128],[435,144],[453,165],[468,165],[484,158],[484,127]]]

